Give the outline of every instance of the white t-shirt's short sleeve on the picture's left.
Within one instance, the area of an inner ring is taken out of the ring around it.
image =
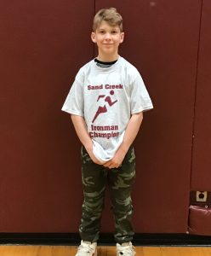
[[[83,116],[84,114],[84,100],[83,100],[83,73],[81,70],[77,73],[76,79],[71,86],[66,102],[61,108],[67,113]]]

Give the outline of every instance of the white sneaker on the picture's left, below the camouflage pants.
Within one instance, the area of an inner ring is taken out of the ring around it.
[[[82,240],[77,248],[76,256],[97,256],[97,243]]]

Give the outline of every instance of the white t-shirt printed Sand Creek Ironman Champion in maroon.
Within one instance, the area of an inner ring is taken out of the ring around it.
[[[111,67],[89,61],[77,73],[62,110],[82,116],[101,163],[123,142],[131,115],[153,108],[138,70],[119,56]]]

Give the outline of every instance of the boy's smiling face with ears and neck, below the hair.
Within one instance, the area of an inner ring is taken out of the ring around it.
[[[91,38],[97,44],[100,56],[117,58],[118,46],[123,43],[124,33],[119,26],[110,26],[103,20],[96,31],[92,32]]]

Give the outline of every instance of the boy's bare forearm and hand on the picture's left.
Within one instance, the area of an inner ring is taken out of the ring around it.
[[[86,148],[90,158],[94,161],[95,164],[100,165],[100,161],[96,159],[93,154],[93,142],[87,131],[87,125],[82,116],[71,114],[71,120],[77,132],[77,137],[83,143],[83,146]]]

